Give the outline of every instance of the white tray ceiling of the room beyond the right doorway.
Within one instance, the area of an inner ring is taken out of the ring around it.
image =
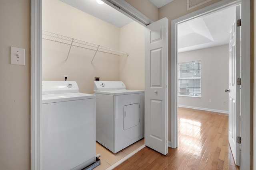
[[[231,7],[178,25],[178,52],[228,44],[236,8]]]

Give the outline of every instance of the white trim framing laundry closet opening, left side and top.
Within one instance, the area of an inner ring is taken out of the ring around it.
[[[102,0],[132,20],[153,23],[125,0]],[[31,0],[31,169],[42,170],[42,0]]]

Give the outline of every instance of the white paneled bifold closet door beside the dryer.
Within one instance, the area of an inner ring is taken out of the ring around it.
[[[168,19],[145,29],[145,145],[168,153]]]

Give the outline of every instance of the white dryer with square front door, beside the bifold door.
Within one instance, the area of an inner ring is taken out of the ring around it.
[[[116,153],[144,137],[144,91],[120,81],[94,81],[96,141]]]

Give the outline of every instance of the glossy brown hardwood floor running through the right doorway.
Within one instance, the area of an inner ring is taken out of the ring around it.
[[[228,116],[178,108],[178,148],[145,147],[114,170],[239,170],[228,144]]]

